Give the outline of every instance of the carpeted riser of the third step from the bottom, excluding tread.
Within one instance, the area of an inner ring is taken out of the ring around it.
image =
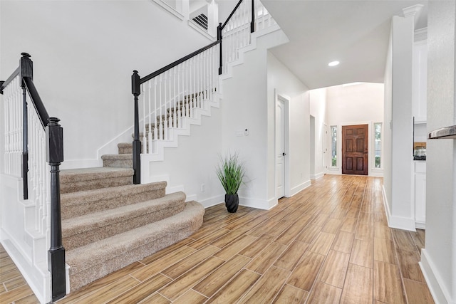
[[[61,195],[61,214],[62,219],[70,219],[93,212],[113,209],[119,206],[135,204],[139,201],[147,201],[165,196],[165,188],[148,189],[142,192],[100,193],[96,196],[78,196],[67,198]]]

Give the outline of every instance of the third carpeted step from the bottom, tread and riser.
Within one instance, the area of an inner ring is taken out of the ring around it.
[[[157,199],[165,196],[165,188],[166,182],[155,182],[61,194],[62,219]]]

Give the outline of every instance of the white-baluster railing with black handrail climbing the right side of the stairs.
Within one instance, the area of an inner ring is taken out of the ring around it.
[[[218,75],[227,73],[228,63],[239,59],[239,49],[249,46],[251,33],[274,24],[259,0],[240,0],[227,20],[219,23],[217,41],[142,78],[133,71],[135,184],[140,184],[140,154],[155,153],[160,142],[173,140],[183,120],[207,110],[218,92]]]

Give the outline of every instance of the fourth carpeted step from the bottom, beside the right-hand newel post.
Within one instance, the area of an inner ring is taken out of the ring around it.
[[[133,183],[133,169],[95,167],[65,169],[60,173],[61,194]]]

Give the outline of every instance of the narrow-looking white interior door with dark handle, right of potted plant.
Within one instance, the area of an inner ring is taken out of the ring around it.
[[[284,102],[276,100],[276,185],[277,199],[285,196]]]

